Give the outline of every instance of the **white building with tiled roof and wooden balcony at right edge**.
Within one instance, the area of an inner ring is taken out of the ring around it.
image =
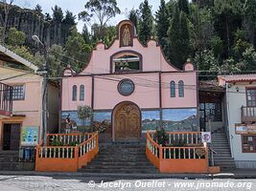
[[[256,74],[219,76],[225,88],[226,126],[238,168],[256,168]]]

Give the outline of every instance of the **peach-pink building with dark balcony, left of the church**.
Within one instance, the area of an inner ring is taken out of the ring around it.
[[[0,60],[0,82],[5,83],[0,84],[0,156],[12,153],[14,160],[18,155],[30,159],[43,135],[43,76],[36,74],[34,64],[2,46]],[[58,102],[58,85],[49,81],[47,132],[58,131]],[[12,166],[1,167],[12,170]]]

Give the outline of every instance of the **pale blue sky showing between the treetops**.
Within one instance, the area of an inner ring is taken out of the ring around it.
[[[84,5],[88,0],[14,0],[14,4],[20,6],[21,8],[34,9],[36,4],[39,4],[42,7],[43,12],[52,13],[51,8],[55,5],[61,7],[62,11],[72,11],[74,14],[78,14],[80,11],[83,11]],[[141,2],[144,0],[117,0],[119,9],[122,11],[122,14],[117,15],[110,21],[110,25],[116,25],[119,21],[126,18],[126,10],[130,11],[132,8],[138,9]],[[166,0],[167,1],[167,0]],[[149,0],[150,5],[152,6],[152,11],[155,12],[158,10],[160,5],[160,0]],[[78,29],[81,32],[83,22],[78,22]]]

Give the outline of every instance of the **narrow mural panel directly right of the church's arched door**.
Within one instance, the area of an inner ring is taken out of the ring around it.
[[[154,111],[141,111],[142,115],[142,132],[156,130],[160,125],[160,112]]]

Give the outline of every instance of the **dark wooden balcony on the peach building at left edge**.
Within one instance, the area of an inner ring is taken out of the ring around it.
[[[0,82],[0,119],[12,115],[12,86]]]

